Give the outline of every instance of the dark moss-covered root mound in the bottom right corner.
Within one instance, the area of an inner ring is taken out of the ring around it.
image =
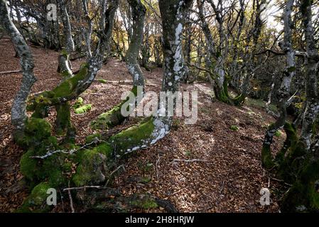
[[[319,162],[303,168],[300,177],[281,202],[282,212],[319,212]]]

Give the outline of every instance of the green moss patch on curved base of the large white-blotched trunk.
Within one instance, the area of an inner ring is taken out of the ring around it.
[[[141,147],[141,145],[144,145],[146,140],[150,140],[153,130],[153,118],[150,118],[145,123],[133,126],[121,133],[118,133],[117,135],[112,136],[110,141],[114,145],[114,148],[116,148],[117,155],[124,155],[126,151]]]

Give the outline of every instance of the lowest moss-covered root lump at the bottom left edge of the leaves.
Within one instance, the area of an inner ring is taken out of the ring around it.
[[[47,194],[51,186],[47,182],[42,182],[33,188],[31,194],[25,199],[21,208],[17,209],[17,213],[44,213],[53,209],[53,206],[48,206]]]

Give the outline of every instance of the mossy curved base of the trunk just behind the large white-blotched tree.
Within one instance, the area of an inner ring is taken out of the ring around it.
[[[134,94],[135,99],[137,96],[137,92],[137,87],[133,87],[131,89],[131,94]],[[114,106],[113,109],[98,116],[97,119],[92,122],[92,128],[107,130],[123,123],[127,117],[121,114],[121,109],[124,104],[128,103],[128,101],[130,101],[130,103],[136,102],[136,100],[130,100],[129,97],[127,97],[126,100],[122,101],[117,106]],[[129,111],[129,106],[127,106],[127,108],[127,111]]]

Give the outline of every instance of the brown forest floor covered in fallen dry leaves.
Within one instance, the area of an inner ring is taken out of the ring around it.
[[[0,72],[20,70],[18,58],[9,38],[0,40]],[[32,48],[38,81],[32,93],[53,89],[60,82],[56,72],[58,52]],[[72,62],[76,70],[82,60]],[[158,92],[162,70],[145,72],[146,90]],[[10,123],[11,104],[21,83],[21,73],[0,74],[0,211],[11,212],[21,206],[28,195],[19,160],[23,150],[14,145]],[[106,79],[103,84],[98,79]],[[86,114],[72,113],[77,128],[77,142],[84,143],[94,133],[90,122],[119,103],[121,94],[131,89],[131,77],[124,62],[110,59],[82,98],[92,104]],[[146,150],[121,160],[125,172],[114,180],[114,187],[123,194],[149,193],[168,199],[180,212],[278,212],[280,185],[261,167],[261,145],[266,127],[274,118],[256,106],[234,107],[212,101],[208,84],[183,84],[182,89],[198,90],[199,111],[195,125],[174,120],[173,131]],[[50,111],[52,123],[55,111]],[[126,128],[131,119],[118,128]],[[238,131],[232,131],[237,126]],[[274,152],[285,140],[276,138]],[[177,162],[173,160],[205,160]],[[272,192],[271,205],[261,206],[260,190]],[[60,211],[56,209],[55,211]]]

